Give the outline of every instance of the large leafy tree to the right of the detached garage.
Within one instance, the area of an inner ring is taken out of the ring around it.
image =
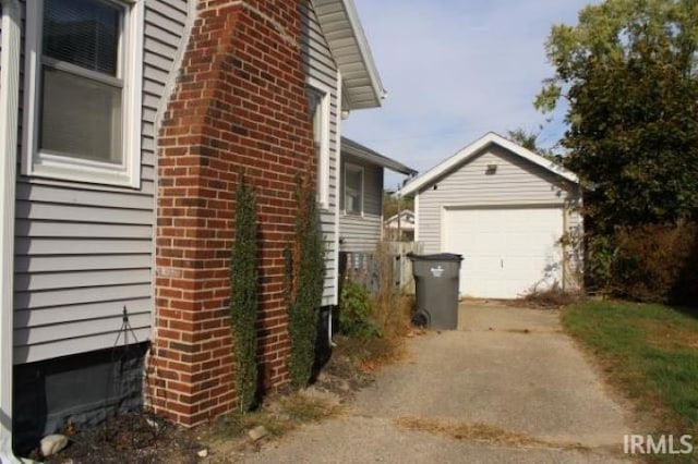
[[[567,101],[564,163],[593,233],[696,213],[697,51],[698,0],[605,0],[553,27],[535,106]]]

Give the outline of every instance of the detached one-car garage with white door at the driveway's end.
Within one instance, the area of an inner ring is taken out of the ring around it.
[[[400,192],[414,196],[414,239],[423,252],[464,256],[460,294],[513,298],[568,289],[580,268],[577,176],[489,133]],[[565,241],[567,242],[567,241]]]

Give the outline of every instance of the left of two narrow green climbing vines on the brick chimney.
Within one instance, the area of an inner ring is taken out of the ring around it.
[[[230,325],[240,411],[254,406],[257,384],[256,320],[258,308],[257,221],[254,190],[237,190],[236,239],[230,256]]]

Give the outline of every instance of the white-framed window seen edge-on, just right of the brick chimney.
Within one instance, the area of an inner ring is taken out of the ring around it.
[[[317,160],[317,202],[329,206],[329,87],[316,80],[308,82],[308,107],[313,123],[313,143]]]

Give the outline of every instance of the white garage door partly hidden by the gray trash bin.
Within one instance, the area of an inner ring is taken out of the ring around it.
[[[443,251],[464,256],[461,296],[514,298],[562,280],[561,208],[448,209]]]

